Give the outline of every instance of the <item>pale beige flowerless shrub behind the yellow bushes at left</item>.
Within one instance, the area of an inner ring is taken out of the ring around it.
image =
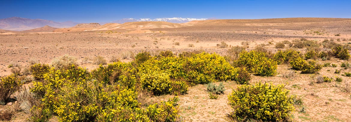
[[[68,68],[71,65],[76,65],[78,66],[77,63],[77,58],[73,57],[73,56],[69,56],[68,54],[65,54],[63,56],[60,56],[58,58],[55,58],[52,61],[52,66],[54,68],[58,68],[58,69],[65,69]]]

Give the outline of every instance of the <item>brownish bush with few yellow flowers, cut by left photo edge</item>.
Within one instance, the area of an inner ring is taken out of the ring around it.
[[[6,104],[12,94],[22,86],[21,81],[15,75],[9,75],[0,79],[0,105]]]

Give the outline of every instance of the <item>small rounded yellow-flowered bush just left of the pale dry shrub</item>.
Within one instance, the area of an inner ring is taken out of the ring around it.
[[[33,64],[30,66],[30,70],[35,80],[44,79],[44,74],[47,73],[49,69],[50,66],[47,64]]]

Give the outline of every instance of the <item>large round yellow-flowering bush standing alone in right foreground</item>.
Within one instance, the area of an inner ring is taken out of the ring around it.
[[[233,90],[228,100],[234,109],[228,117],[236,121],[289,121],[294,110],[293,101],[284,85],[241,85]]]

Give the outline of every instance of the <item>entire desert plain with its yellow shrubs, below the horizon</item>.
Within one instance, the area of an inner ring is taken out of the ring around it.
[[[1,31],[0,121],[351,121],[350,21]]]

